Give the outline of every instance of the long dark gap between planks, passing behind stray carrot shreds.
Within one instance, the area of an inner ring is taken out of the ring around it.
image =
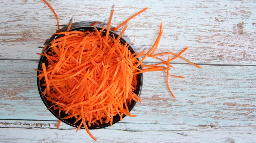
[[[1,60],[12,60],[12,61],[39,61],[38,59],[26,59],[26,58],[0,58]],[[157,64],[160,62],[142,62],[142,63],[153,63]],[[170,62],[170,64],[179,64],[179,65],[189,65],[189,63],[183,63],[183,62]],[[212,63],[195,63],[197,65],[203,65],[203,66],[233,66],[233,67],[256,67],[256,65],[247,65],[247,64],[212,64]]]

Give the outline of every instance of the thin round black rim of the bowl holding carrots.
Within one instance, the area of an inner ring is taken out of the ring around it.
[[[94,27],[95,27],[95,26],[80,26],[80,27],[72,28],[72,29],[70,29],[69,31],[88,31],[88,30],[95,31]],[[97,28],[98,31],[102,30],[102,28],[100,28],[100,27],[96,27],[96,28]],[[106,29],[104,29],[103,32],[106,32]],[[109,31],[109,35],[112,35],[112,36],[114,35],[116,38],[119,36],[118,34],[116,34],[115,32],[113,32],[113,31],[111,31],[111,30]],[[53,40],[58,39],[58,38],[60,38],[60,37],[62,37],[62,36],[64,36],[64,34],[61,34],[61,35],[56,36]],[[51,43],[53,40],[51,40],[51,41],[47,44],[47,48],[46,48],[44,51],[47,51],[47,50],[49,49],[50,43]],[[126,43],[126,40],[124,40],[124,39],[121,37],[121,38],[120,38],[120,42],[124,44],[124,43]],[[128,44],[128,45],[129,45],[129,44]],[[130,50],[132,53],[135,53],[135,51],[133,50],[133,48],[132,48],[130,45],[129,45],[128,48],[129,48],[129,50]],[[43,52],[44,52],[44,51],[43,51]],[[42,52],[42,53],[43,53],[43,52]],[[136,55],[135,55],[135,56],[136,56]],[[42,63],[43,63],[44,58],[46,58],[46,57],[45,57],[45,56],[41,56],[41,57],[40,57],[40,60],[39,60],[39,63],[38,63],[38,67],[37,67],[38,70],[41,70],[41,67],[42,67],[41,65],[42,65]],[[139,58],[137,58],[137,60],[139,61]],[[141,65],[139,65],[138,68],[139,68],[140,70],[142,70]],[[38,76],[38,74],[40,74],[39,71],[37,71],[36,76]],[[139,79],[138,79],[138,83],[137,83],[137,89],[138,89],[138,91],[136,91],[136,92],[137,92],[137,96],[139,97],[139,96],[140,96],[140,93],[141,93],[141,90],[142,90],[143,74],[142,74],[142,73],[139,73],[137,76],[138,76]],[[40,97],[41,97],[43,103],[44,103],[45,106],[47,107],[47,109],[48,109],[57,119],[59,119],[60,121],[66,123],[66,124],[68,124],[68,125],[70,125],[70,126],[73,126],[73,127],[76,127],[76,128],[77,128],[78,126],[76,126],[76,125],[74,125],[74,124],[72,124],[72,123],[66,121],[65,119],[60,118],[58,115],[56,115],[56,114],[53,112],[53,109],[50,108],[50,105],[47,103],[48,101],[44,98],[44,96],[43,96],[43,94],[42,94],[42,89],[41,89],[41,86],[40,86],[41,81],[39,80],[39,77],[36,77],[36,79],[37,79],[37,87],[38,87],[39,95],[40,95]],[[138,88],[138,86],[139,86],[139,88]],[[137,101],[137,102],[138,102],[138,101]],[[129,106],[130,106],[130,107],[129,107],[129,112],[131,112],[131,110],[134,108],[134,106],[136,105],[137,102],[134,101],[133,104],[129,105]],[[50,108],[50,109],[49,109],[49,108]],[[116,116],[119,117],[118,114],[117,114]],[[123,117],[122,117],[122,118],[124,118],[125,116],[126,116],[126,115],[123,114]],[[112,125],[114,125],[114,124],[117,123],[118,121],[120,121],[120,118],[117,118],[117,120],[113,120],[113,124],[112,124]],[[110,122],[108,122],[108,123],[106,123],[106,124],[104,124],[104,123],[103,123],[103,124],[100,124],[99,126],[96,126],[96,127],[92,127],[92,126],[89,127],[89,126],[88,126],[88,129],[101,129],[101,128],[106,128],[106,127],[108,127],[108,126],[110,126]],[[84,129],[83,125],[82,125],[80,128]]]

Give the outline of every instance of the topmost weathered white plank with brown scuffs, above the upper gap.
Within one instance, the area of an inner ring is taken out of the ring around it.
[[[52,36],[56,22],[42,1],[0,1],[1,58],[38,59],[35,53]],[[256,64],[254,1],[50,1],[64,27],[73,17],[76,26],[106,23],[115,7],[113,26],[144,7],[149,9],[128,23],[125,39],[136,39],[136,51],[148,50],[163,22],[157,52],[180,52],[197,63]],[[104,25],[104,24],[101,24]],[[61,26],[63,27],[63,26]],[[119,31],[120,32],[120,31]],[[152,61],[149,59],[148,61]]]

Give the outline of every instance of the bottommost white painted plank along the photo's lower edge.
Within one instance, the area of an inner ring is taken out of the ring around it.
[[[255,128],[203,128],[194,130],[125,131],[113,129],[92,130],[98,142],[255,142]],[[111,133],[111,134],[110,134]],[[95,142],[83,130],[2,128],[0,142]]]

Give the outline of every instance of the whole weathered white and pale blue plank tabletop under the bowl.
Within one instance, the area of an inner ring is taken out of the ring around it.
[[[42,1],[0,2],[0,142],[94,142],[84,130],[61,124],[40,99],[36,72],[46,40],[57,28]],[[128,23],[123,38],[148,51],[163,23],[157,53],[179,53],[202,70],[177,59],[170,85],[164,72],[144,73],[142,102],[111,127],[92,130],[98,142],[256,142],[255,1],[60,1],[49,3],[61,28],[99,21],[115,8],[112,26],[148,7]],[[117,31],[120,33],[120,30]],[[161,58],[167,58],[162,56]],[[147,59],[145,63],[158,61]]]

